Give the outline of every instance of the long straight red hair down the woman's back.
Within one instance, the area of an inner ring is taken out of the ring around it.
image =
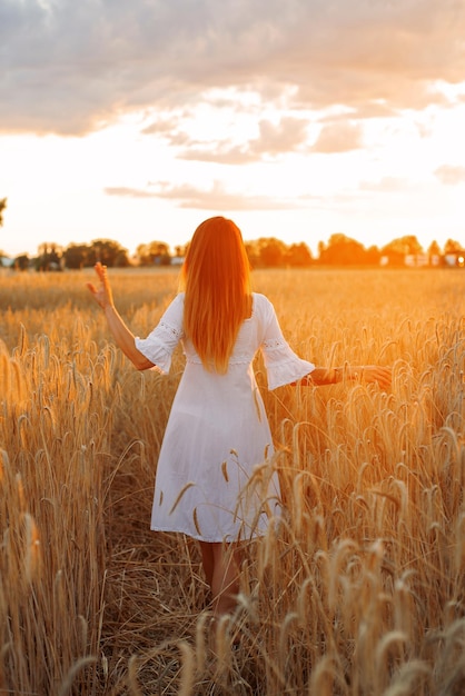
[[[208,370],[225,374],[250,316],[250,267],[237,225],[215,217],[194,232],[181,270],[184,330]]]

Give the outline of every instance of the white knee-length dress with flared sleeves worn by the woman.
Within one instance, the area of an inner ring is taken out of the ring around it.
[[[206,370],[182,329],[184,294],[136,346],[164,372],[182,341],[186,367],[172,402],[158,459],[151,529],[180,531],[204,541],[263,535],[279,516],[271,434],[253,360],[263,351],[268,389],[308,375],[283,337],[271,302],[253,294],[225,375]]]

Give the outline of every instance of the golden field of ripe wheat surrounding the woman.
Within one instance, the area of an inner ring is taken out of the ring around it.
[[[268,392],[257,358],[285,514],[211,647],[197,546],[149,530],[182,354],[136,371],[89,274],[0,272],[0,694],[465,693],[465,275],[254,272],[299,355],[393,386]],[[145,336],[177,275],[111,278]]]

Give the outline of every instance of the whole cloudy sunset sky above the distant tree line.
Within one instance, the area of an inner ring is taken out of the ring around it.
[[[465,246],[465,0],[0,0],[0,249]]]

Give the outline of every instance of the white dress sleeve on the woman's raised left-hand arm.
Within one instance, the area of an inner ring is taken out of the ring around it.
[[[147,338],[136,337],[136,348],[162,372],[169,371],[172,352],[184,337],[182,315],[184,294],[179,294]]]

